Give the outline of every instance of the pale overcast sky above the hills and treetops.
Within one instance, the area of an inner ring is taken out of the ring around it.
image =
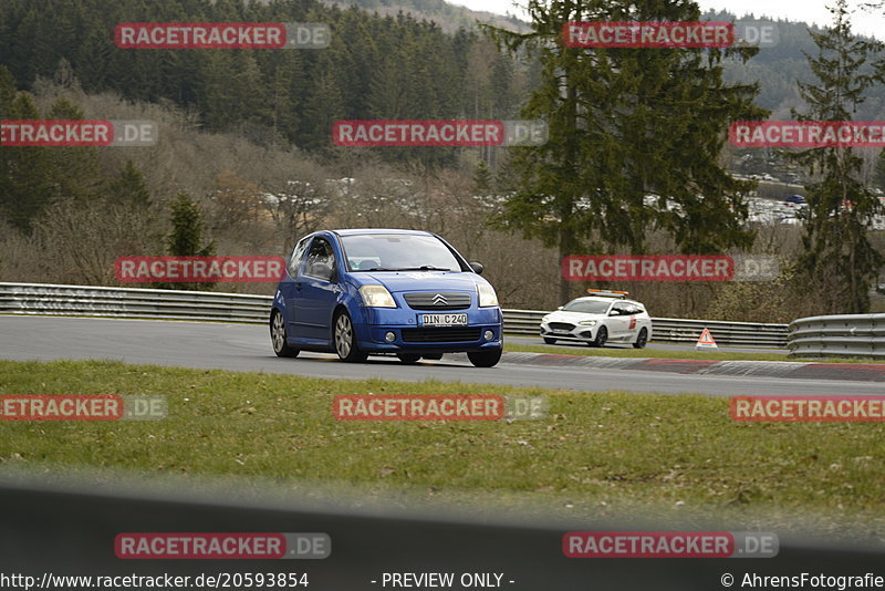
[[[447,0],[454,4],[461,4],[472,10],[485,10],[504,14],[522,15],[522,11],[513,7],[513,0]],[[868,0],[848,0],[850,6],[856,8]],[[741,18],[746,14],[756,17],[772,17],[791,21],[813,22],[826,25],[831,22],[826,4],[830,0],[699,0],[702,10],[728,10]],[[523,2],[524,4],[524,2]],[[524,15],[522,15],[525,19]],[[528,19],[525,19],[528,20]],[[875,12],[857,9],[852,18],[854,31],[866,35],[876,37],[885,41],[885,10]]]

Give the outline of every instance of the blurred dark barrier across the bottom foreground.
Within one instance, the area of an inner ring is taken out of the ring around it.
[[[150,485],[140,478],[125,486],[107,475],[92,483],[85,478],[76,481],[58,476],[40,478],[0,476],[0,506],[3,507],[0,580],[3,576],[21,574],[33,577],[37,583],[46,583],[33,584],[32,589],[103,587],[95,581],[62,585],[58,582],[62,576],[163,574],[190,577],[190,589],[243,589],[254,587],[242,582],[243,573],[251,573],[253,581],[256,573],[263,573],[266,578],[274,573],[305,573],[310,591],[377,591],[419,587],[383,584],[385,573],[414,573],[416,577],[451,573],[452,584],[420,589],[715,591],[729,587],[770,589],[771,585],[761,583],[764,579],[753,577],[800,577],[803,572],[834,578],[831,585],[822,588],[857,589],[862,585],[837,587],[835,578],[885,574],[882,541],[868,533],[866,546],[851,548],[826,541],[827,538],[803,535],[801,539],[791,539],[781,533],[774,558],[566,558],[563,537],[571,531],[733,531],[736,528],[709,522],[701,526],[696,517],[689,516],[683,518],[685,523],[643,522],[641,527],[635,518],[618,523],[611,517],[608,521],[592,522],[542,517],[513,521],[498,517],[506,512],[504,507],[455,515],[428,506],[404,509],[402,498],[382,505],[373,505],[366,498],[344,502],[333,491],[323,494],[322,504],[310,505],[304,499],[316,497],[308,495],[303,485],[298,487],[298,492],[290,489],[288,494],[270,494],[270,487],[256,492],[256,486],[250,487],[251,492],[232,485],[223,489],[201,489],[194,479],[183,480],[177,486],[167,483],[158,490],[156,476],[150,477]],[[509,512],[513,515],[512,510]],[[691,526],[686,527],[686,523]],[[331,542],[331,553],[327,558],[306,560],[117,558],[116,536],[138,532],[322,532]],[[857,540],[861,538],[863,536]],[[228,584],[194,585],[195,578],[200,574],[227,577]],[[488,576],[487,584],[462,583],[482,580],[477,574]],[[742,584],[747,577],[756,584]],[[238,580],[240,584],[236,584]],[[171,588],[169,584],[158,587]],[[808,581],[804,587],[795,583],[787,587],[810,588]]]

